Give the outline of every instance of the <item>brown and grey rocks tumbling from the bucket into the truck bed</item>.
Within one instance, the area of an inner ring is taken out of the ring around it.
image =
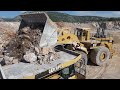
[[[50,63],[57,60],[59,55],[54,48],[40,48],[42,30],[39,28],[24,27],[20,29],[16,36],[1,51],[0,62],[9,65],[19,62],[26,63]]]

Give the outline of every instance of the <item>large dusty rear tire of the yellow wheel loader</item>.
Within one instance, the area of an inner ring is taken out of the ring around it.
[[[104,59],[101,60],[100,56],[103,53],[105,54]],[[105,63],[107,63],[109,61],[109,57],[110,57],[110,51],[107,47],[104,46],[99,46],[98,48],[93,49],[90,53],[91,61],[98,66],[102,66]]]

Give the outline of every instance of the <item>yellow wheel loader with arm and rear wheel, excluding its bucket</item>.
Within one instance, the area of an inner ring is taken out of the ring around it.
[[[112,49],[113,38],[104,35],[103,30],[101,35],[97,31],[97,36],[91,32],[90,28],[76,28],[74,32],[63,28],[59,33],[58,43],[62,43],[66,49],[86,53],[88,59],[96,65],[104,65],[115,53]]]

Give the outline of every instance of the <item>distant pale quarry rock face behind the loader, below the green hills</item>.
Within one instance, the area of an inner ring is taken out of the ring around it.
[[[104,27],[101,26],[104,24]],[[68,22],[57,22],[59,27],[81,27],[81,28],[91,28],[96,30],[97,28],[102,28],[105,30],[120,30],[120,21],[106,21],[106,22],[88,22],[88,23],[68,23]]]

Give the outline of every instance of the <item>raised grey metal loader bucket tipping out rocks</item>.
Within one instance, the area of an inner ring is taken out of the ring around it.
[[[21,15],[22,21],[19,27],[36,26],[42,32],[40,47],[50,47],[57,43],[57,26],[52,22],[49,16],[44,12],[23,14]]]

